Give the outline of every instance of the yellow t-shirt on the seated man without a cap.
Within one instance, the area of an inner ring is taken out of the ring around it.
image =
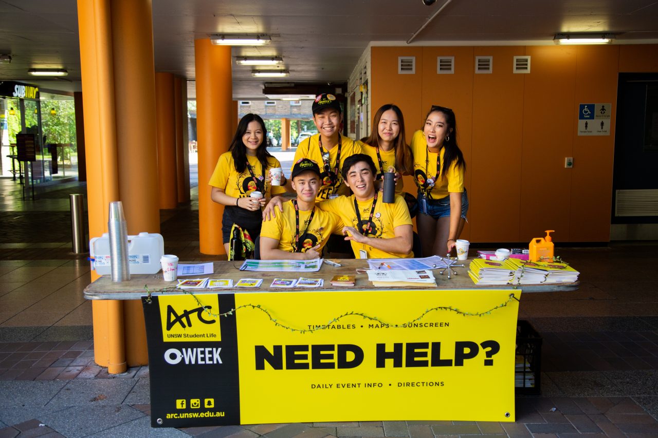
[[[362,227],[367,224],[370,217],[370,208],[372,208],[372,199],[368,201],[357,201],[359,205],[359,214],[361,215],[361,224],[357,219],[357,214],[354,210],[354,195],[339,196],[338,198],[328,199],[317,206],[329,212],[333,212],[340,217],[340,220],[346,226],[353,226],[357,230],[362,230]],[[384,203],[382,196],[378,195],[377,203],[374,206],[374,214],[372,215],[372,231],[368,233],[368,237],[379,237],[381,239],[391,239],[395,237],[395,227],[401,225],[411,225],[411,216],[409,216],[409,208],[407,203],[400,196],[395,196],[395,203]],[[410,258],[413,257],[413,251],[409,254],[402,253],[388,253],[381,249],[373,248],[365,243],[357,243],[350,241],[352,244],[352,251],[354,256],[359,258],[359,250],[363,249],[368,253],[368,258]]]

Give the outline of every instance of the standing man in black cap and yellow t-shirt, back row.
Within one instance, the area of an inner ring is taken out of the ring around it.
[[[361,143],[340,135],[343,114],[333,94],[324,93],[315,98],[313,122],[318,134],[299,143],[295,161],[310,158],[320,164],[320,189],[316,199],[324,201],[331,195],[348,193],[341,174],[343,162],[351,155],[362,153],[362,150]]]

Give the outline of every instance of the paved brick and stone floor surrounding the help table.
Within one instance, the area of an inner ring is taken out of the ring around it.
[[[517,397],[515,423],[152,429],[148,367],[109,376],[93,364],[91,305],[82,297],[89,264],[70,253],[68,222],[68,194],[86,193],[84,183],[45,187],[36,201],[21,201],[17,186],[0,179],[0,438],[658,437],[657,242],[556,251],[580,270],[581,287],[522,296],[519,318],[544,339],[542,393]],[[195,197],[195,183],[192,190]],[[216,259],[199,253],[197,205],[161,212],[165,251]]]

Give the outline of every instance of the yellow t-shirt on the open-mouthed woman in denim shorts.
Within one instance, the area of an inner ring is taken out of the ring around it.
[[[413,134],[411,139],[411,153],[413,153],[413,177],[418,188],[426,192],[429,199],[445,198],[449,192],[464,191],[464,166],[450,165],[445,175],[440,175],[438,181],[434,182],[434,187],[426,187],[428,178],[436,176],[436,153],[427,149],[425,137],[422,131],[418,130]],[[439,167],[443,166],[443,154],[445,148],[439,151]]]

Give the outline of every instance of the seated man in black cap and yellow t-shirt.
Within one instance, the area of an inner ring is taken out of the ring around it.
[[[290,180],[297,199],[284,203],[283,213],[263,222],[260,242],[263,260],[319,258],[331,233],[342,230],[338,216],[315,206],[321,185],[320,168],[315,161],[298,160]]]

